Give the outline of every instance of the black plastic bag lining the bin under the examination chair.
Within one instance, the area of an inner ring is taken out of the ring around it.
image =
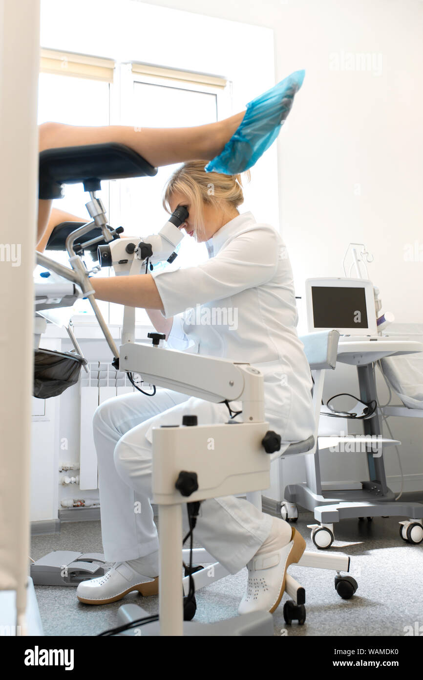
[[[79,379],[86,359],[72,352],[35,350],[33,395],[39,399],[58,396]]]

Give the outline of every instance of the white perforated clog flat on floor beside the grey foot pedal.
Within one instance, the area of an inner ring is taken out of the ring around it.
[[[126,562],[116,562],[104,576],[81,581],[77,587],[77,598],[85,605],[108,605],[131,592],[138,590],[141,595],[157,595],[158,577],[149,579],[132,569]]]

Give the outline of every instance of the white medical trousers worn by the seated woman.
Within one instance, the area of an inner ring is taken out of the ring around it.
[[[184,414],[197,415],[199,425],[224,423],[229,417],[224,404],[172,390],[158,390],[153,397],[140,392],[122,394],[96,410],[94,442],[103,549],[108,562],[126,562],[158,550],[150,503],[151,428],[181,424]],[[235,574],[251,560],[271,528],[270,515],[242,498],[225,496],[202,502],[194,537]]]

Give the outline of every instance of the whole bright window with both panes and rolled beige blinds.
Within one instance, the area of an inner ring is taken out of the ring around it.
[[[125,124],[134,129],[188,127],[214,122],[229,113],[229,84],[223,78],[136,63],[113,64],[106,59],[53,50],[41,53],[39,122]],[[160,167],[155,177],[102,182],[100,195],[110,224],[124,226],[125,235],[134,237],[160,231],[168,220],[162,207],[164,186],[177,167]],[[67,185],[65,198],[54,205],[88,220],[87,200],[81,184]],[[50,253],[67,263],[67,254],[60,258],[61,255]],[[197,265],[207,257],[206,246],[187,237],[179,245],[173,267]],[[158,269],[169,266],[155,265]],[[103,270],[99,275],[113,272]],[[122,305],[100,303],[100,306],[109,324],[122,324]],[[88,301],[79,301],[77,311],[91,316]],[[136,310],[136,324],[151,326],[143,309]]]

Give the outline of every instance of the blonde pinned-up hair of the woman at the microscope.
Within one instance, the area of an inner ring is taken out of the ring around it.
[[[189,160],[170,176],[163,194],[163,207],[170,213],[170,199],[174,194],[183,194],[189,200],[196,214],[196,233],[202,235],[204,224],[204,205],[214,205],[229,212],[244,203],[242,192],[242,175],[223,175],[217,172],[206,172],[207,160]],[[250,171],[243,173],[250,181]]]

